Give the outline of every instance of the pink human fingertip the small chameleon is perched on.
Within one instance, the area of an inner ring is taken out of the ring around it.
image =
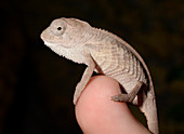
[[[110,99],[120,94],[116,80],[93,77],[77,105],[77,121],[86,134],[150,134],[131,113],[126,103]]]

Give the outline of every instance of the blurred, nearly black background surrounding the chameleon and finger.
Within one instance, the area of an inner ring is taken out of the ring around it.
[[[132,44],[154,79],[160,132],[184,133],[184,0],[1,0],[0,14],[0,134],[82,133],[71,99],[86,66],[40,39],[62,16]]]

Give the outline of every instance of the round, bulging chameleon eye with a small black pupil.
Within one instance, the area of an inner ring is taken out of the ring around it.
[[[55,36],[61,36],[66,29],[66,23],[63,19],[55,19],[50,25],[50,30]]]

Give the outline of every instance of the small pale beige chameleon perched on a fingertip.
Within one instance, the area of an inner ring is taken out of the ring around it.
[[[76,86],[74,104],[94,71],[117,80],[121,94],[111,100],[130,103],[147,119],[148,130],[158,134],[156,96],[150,72],[141,55],[118,36],[77,18],[54,19],[41,32],[41,39],[56,54],[87,68]]]

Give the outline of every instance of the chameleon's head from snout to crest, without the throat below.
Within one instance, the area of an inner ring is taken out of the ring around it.
[[[44,43],[52,46],[74,48],[78,43],[86,42],[84,36],[86,29],[90,28],[90,25],[86,22],[76,18],[57,18],[54,19],[51,25],[43,30],[41,39]]]

